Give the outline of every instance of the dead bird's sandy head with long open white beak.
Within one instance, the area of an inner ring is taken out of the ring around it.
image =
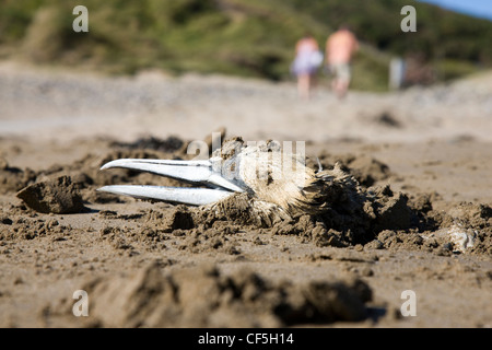
[[[314,171],[305,158],[283,152],[277,142],[245,144],[241,138],[225,141],[209,160],[120,159],[106,163],[113,167],[149,172],[161,176],[204,185],[184,188],[163,186],[114,185],[99,188],[116,195],[154,199],[227,211],[232,201],[246,208],[261,221],[320,214],[340,196],[355,192],[354,177],[337,163],[331,170]]]

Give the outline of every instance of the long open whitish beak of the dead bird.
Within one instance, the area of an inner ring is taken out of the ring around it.
[[[243,188],[222,176],[220,167],[216,171],[211,161],[121,159],[106,163],[101,170],[114,167],[148,172],[212,188],[115,185],[104,186],[98,190],[194,206],[212,203],[234,192],[244,191]]]

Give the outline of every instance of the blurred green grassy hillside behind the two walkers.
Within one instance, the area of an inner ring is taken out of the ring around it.
[[[78,4],[89,9],[89,33],[72,31]],[[417,8],[417,33],[400,31],[405,4]],[[363,43],[355,89],[384,91],[395,55],[420,57],[441,80],[492,67],[492,22],[410,0],[3,0],[0,56],[286,80],[296,40],[309,32],[324,47],[341,23]]]

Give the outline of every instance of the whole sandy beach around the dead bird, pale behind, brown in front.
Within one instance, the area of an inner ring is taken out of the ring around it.
[[[491,327],[491,94],[489,74],[342,102],[319,86],[306,103],[293,83],[3,62],[0,326]],[[98,167],[191,158],[188,142],[221,127],[305,141],[308,164],[340,161],[375,199],[261,226],[237,208],[200,217],[95,191],[176,185]],[[72,313],[77,290],[87,317]],[[409,290],[415,316],[401,314]]]

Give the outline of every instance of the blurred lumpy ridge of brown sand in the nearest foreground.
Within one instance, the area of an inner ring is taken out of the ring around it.
[[[92,280],[93,316],[103,327],[283,327],[359,322],[372,291],[362,280],[274,282],[213,265],[163,275],[159,264],[132,276]],[[207,295],[207,298],[203,298]],[[93,320],[94,322],[94,320]]]

